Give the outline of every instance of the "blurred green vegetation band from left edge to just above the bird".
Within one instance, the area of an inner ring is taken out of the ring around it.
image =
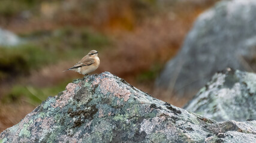
[[[88,29],[64,27],[53,32],[34,32],[22,35],[32,39],[23,45],[0,47],[0,79],[29,74],[59,60],[83,57],[90,49],[100,51],[110,45],[107,36]]]

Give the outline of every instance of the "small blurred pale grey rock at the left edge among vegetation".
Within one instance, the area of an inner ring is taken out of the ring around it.
[[[20,43],[20,39],[14,33],[0,28],[0,45],[14,46]]]

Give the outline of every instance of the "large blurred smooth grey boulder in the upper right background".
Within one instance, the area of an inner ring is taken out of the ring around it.
[[[156,81],[179,97],[192,97],[216,71],[256,70],[256,1],[221,1],[201,14],[183,47]]]

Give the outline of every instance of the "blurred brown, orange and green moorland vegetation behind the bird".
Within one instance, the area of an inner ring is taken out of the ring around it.
[[[0,29],[20,41],[0,45],[0,132],[82,77],[62,71],[92,49],[101,59],[95,73],[110,71],[182,106],[185,101],[155,92],[153,83],[198,14],[216,1],[1,0]]]

